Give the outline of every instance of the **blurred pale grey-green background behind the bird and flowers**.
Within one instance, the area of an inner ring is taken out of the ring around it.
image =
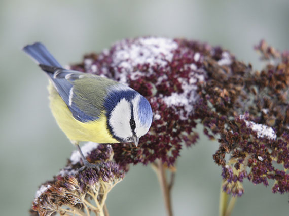
[[[24,45],[42,41],[67,65],[126,37],[185,37],[220,45],[261,69],[252,48],[266,39],[289,49],[288,11],[287,0],[1,0],[1,215],[27,215],[39,185],[75,150],[48,108],[47,77],[21,51]],[[201,136],[181,152],[172,190],[175,215],[218,215],[221,168],[212,159],[217,146]],[[271,185],[245,181],[233,215],[288,215],[288,195],[272,194]],[[107,207],[112,216],[166,215],[150,166],[131,167],[109,194]]]

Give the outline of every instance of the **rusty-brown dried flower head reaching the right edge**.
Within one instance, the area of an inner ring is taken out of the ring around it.
[[[262,59],[274,58],[261,73],[233,57],[221,67],[218,59],[208,57],[204,63],[211,75],[202,88],[203,101],[195,108],[204,115],[208,136],[220,136],[213,158],[223,166],[223,189],[238,196],[244,192],[244,178],[265,186],[273,179],[274,193],[289,192],[288,55],[280,55],[264,41],[256,48]]]

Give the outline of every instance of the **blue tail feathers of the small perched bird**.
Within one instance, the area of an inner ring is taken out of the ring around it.
[[[32,45],[25,46],[23,51],[35,59],[39,64],[61,67],[61,65],[50,54],[46,47],[40,42],[35,42]]]

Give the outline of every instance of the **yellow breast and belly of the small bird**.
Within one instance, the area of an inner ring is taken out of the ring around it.
[[[95,121],[80,122],[73,117],[51,82],[48,85],[48,91],[52,114],[69,140],[73,142],[119,143],[107,129],[105,113],[102,113],[100,118]]]

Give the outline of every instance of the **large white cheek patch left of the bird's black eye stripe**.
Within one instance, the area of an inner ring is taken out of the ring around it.
[[[129,121],[131,118],[130,103],[124,98],[113,109],[109,124],[113,134],[119,138],[126,139],[132,137]]]

